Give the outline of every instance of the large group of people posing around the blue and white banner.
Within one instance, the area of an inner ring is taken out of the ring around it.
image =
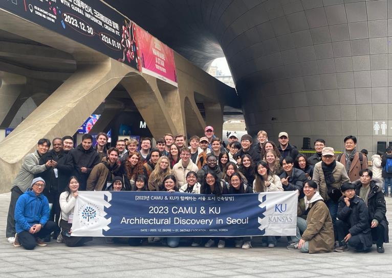
[[[246,134],[228,135],[225,146],[211,126],[203,137],[192,136],[189,147],[182,134],[118,140],[107,147],[107,135],[99,133],[97,144],[89,134],[74,148],[73,137],[40,139],[27,155],[11,186],[6,237],[14,246],[33,249],[51,238],[68,246],[92,240],[72,236],[72,220],[78,191],[167,191],[193,194],[247,194],[297,191],[296,236],[288,237],[288,249],[317,253],[348,250],[379,253],[388,242],[385,196],[391,187],[392,149],[372,157],[357,151],[357,138],[344,138],[344,151],[336,156],[325,140],[314,142],[315,154],[307,158],[280,132],[278,144],[265,131],[257,142]],[[52,149],[50,147],[52,146]],[[50,149],[50,150],[49,150]],[[139,150],[138,150],[139,149]],[[377,175],[377,176],[376,176]],[[383,183],[382,178],[385,179]],[[107,238],[111,243],[118,239]],[[129,245],[163,241],[177,247],[178,237],[128,238]],[[227,238],[194,238],[192,246],[215,244],[224,248]],[[251,237],[235,238],[234,246],[252,247]],[[276,238],[262,238],[275,247]]]

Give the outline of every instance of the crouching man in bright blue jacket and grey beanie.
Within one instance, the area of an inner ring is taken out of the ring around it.
[[[35,178],[31,189],[21,195],[16,201],[14,246],[23,246],[32,250],[36,245],[46,246],[42,238],[50,235],[56,229],[56,223],[49,221],[49,202],[41,194],[45,188],[42,178]]]

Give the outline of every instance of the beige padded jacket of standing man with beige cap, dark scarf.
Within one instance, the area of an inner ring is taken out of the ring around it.
[[[325,183],[325,177],[324,177],[324,172],[322,171],[321,168],[321,163],[317,162],[316,165],[314,165],[314,170],[313,170],[313,181],[317,183],[317,191],[320,192],[321,197],[327,201],[330,199],[330,196],[326,194],[326,183]],[[334,175],[335,182],[332,184],[333,188],[340,189],[340,186],[345,183],[345,182],[350,182],[349,176],[347,175],[346,169],[344,168],[343,164],[340,162],[336,161],[336,167],[332,171],[332,174]]]

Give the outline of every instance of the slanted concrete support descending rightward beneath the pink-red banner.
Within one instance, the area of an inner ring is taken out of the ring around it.
[[[121,84],[132,98],[143,119],[146,121],[148,129],[154,138],[163,137],[165,133],[178,134],[172,116],[176,115],[176,106],[166,106],[161,92],[157,86],[157,79],[145,74],[125,77]]]

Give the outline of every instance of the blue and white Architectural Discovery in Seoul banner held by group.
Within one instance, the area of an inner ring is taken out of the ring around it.
[[[80,191],[72,236],[295,236],[297,192],[204,195]]]

